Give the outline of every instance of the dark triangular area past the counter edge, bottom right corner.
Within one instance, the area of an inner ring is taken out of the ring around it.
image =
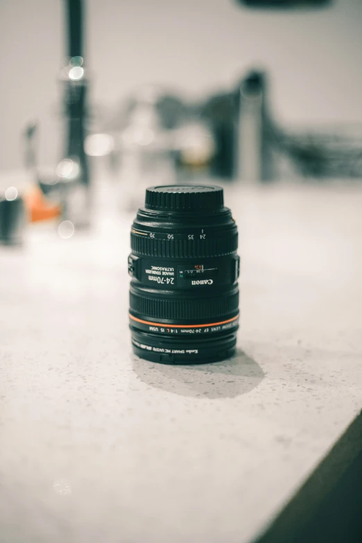
[[[253,543],[361,543],[362,414]]]

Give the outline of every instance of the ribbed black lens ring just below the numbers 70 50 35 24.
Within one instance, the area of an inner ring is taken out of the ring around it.
[[[131,234],[132,252],[162,258],[222,257],[238,248],[237,232],[211,239],[152,239]]]

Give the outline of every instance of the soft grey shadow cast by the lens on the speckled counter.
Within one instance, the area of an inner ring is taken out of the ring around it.
[[[148,386],[199,399],[235,398],[264,379],[259,364],[241,350],[222,362],[166,365],[133,357],[132,367]]]

